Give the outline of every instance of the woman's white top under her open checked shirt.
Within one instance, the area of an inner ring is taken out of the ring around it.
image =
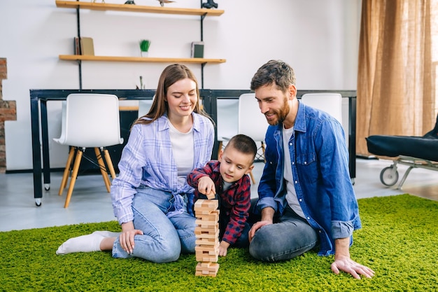
[[[176,130],[172,123],[170,125],[170,141],[176,167],[178,168],[178,186],[184,186],[187,175],[192,171],[194,153],[193,127],[187,133]]]

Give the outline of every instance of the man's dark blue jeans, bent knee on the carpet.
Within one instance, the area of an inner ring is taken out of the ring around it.
[[[258,260],[276,262],[302,255],[316,244],[317,232],[287,206],[278,223],[265,225],[255,232],[249,253]]]

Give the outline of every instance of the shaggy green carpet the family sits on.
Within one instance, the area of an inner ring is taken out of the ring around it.
[[[269,264],[230,249],[217,277],[196,277],[195,255],[166,264],[106,252],[55,255],[69,237],[118,231],[111,221],[0,232],[0,291],[437,291],[438,202],[397,195],[361,199],[359,207],[363,226],[351,254],[373,279],[336,275],[332,256],[315,252]]]

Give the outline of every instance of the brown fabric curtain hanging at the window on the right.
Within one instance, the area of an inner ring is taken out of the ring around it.
[[[436,0],[362,0],[358,154],[369,155],[365,137],[370,135],[423,136],[435,125],[436,4]]]

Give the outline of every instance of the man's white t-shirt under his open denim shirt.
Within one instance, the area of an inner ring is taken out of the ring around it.
[[[299,202],[297,199],[297,192],[295,191],[295,182],[292,174],[292,165],[290,164],[290,152],[289,152],[289,140],[292,137],[294,132],[294,128],[285,129],[283,127],[283,149],[284,149],[284,179],[286,182],[286,201],[290,208],[295,211],[299,216],[305,218],[303,210],[301,206],[299,206]],[[295,148],[295,147],[294,147]]]

